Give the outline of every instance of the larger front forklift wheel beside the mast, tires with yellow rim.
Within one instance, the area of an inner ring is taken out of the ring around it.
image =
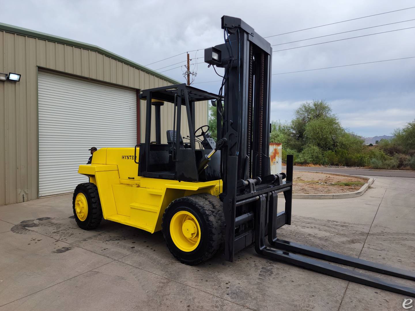
[[[222,202],[206,193],[181,197],[166,208],[161,226],[170,253],[181,263],[197,265],[223,244]]]

